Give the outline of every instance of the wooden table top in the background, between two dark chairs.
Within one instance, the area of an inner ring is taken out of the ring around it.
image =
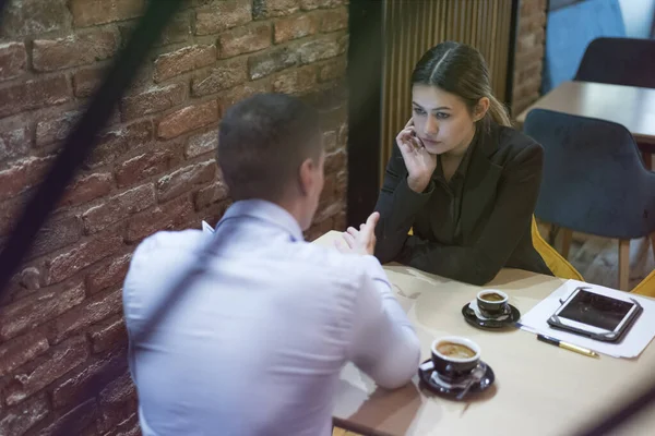
[[[622,124],[639,142],[655,144],[655,89],[592,82],[563,82],[525,109],[550,109]]]

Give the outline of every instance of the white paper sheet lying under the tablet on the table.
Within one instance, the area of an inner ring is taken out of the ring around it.
[[[594,350],[598,353],[611,355],[614,358],[636,358],[646,348],[655,337],[655,300],[645,296],[629,294],[636,300],[643,307],[641,316],[632,325],[632,328],[623,340],[618,343],[603,342],[583,336],[574,335],[568,331],[551,328],[546,322],[550,315],[561,305],[560,300],[565,300],[577,287],[587,287],[591,292],[603,295],[617,296],[626,295],[626,292],[605,288],[597,284],[585,283],[577,280],[568,280],[564,284],[556,289],[546,300],[534,306],[532,311],[521,317],[521,328],[534,334],[547,335],[561,341],[574,343],[580,347]]]

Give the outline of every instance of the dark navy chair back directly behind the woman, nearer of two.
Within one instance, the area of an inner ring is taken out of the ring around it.
[[[545,150],[538,218],[606,238],[655,231],[655,173],[624,126],[534,109],[524,130]]]

